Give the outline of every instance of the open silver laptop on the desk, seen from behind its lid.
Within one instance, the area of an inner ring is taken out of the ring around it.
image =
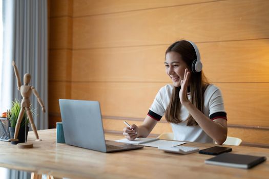
[[[98,101],[59,99],[59,105],[66,144],[101,152],[143,147],[105,140]]]

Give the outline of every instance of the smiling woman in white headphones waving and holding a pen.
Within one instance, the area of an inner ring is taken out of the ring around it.
[[[123,129],[134,140],[147,137],[165,116],[174,140],[222,144],[227,137],[227,119],[220,89],[206,82],[196,45],[176,41],[165,52],[165,69],[172,84],[160,88],[141,126]]]

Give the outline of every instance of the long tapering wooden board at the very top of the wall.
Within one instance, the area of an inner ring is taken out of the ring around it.
[[[74,17],[77,17],[96,14],[110,14],[122,11],[182,6],[210,1],[212,0],[75,0],[73,6]]]

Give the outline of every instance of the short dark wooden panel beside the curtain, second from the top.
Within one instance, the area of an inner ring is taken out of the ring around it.
[[[50,18],[50,49],[72,48],[72,23],[68,16]]]

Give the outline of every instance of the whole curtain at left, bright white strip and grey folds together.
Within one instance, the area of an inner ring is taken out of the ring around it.
[[[42,112],[32,94],[30,101],[38,114],[34,116],[37,130],[48,128],[48,30],[47,0],[3,0],[3,61],[0,89],[1,109],[8,109],[11,101],[21,99],[11,65],[15,60],[23,84],[25,73],[30,73],[30,85],[43,100]],[[1,61],[0,61],[1,62]],[[29,178],[29,173],[10,170],[9,178]]]

